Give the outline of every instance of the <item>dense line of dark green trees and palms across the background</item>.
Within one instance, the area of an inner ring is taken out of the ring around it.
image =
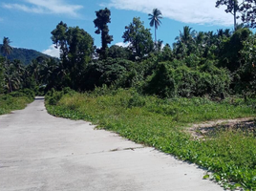
[[[228,7],[228,3],[236,2],[217,1],[216,5]],[[247,5],[248,1],[244,7],[252,9]],[[109,47],[114,37],[109,33],[111,11],[107,8],[96,11],[93,21],[101,48],[96,48],[88,32],[61,21],[51,32],[53,44],[60,50],[59,60],[38,57],[27,67],[18,60],[8,59],[11,41],[5,37],[0,91],[69,87],[85,92],[108,86],[134,88],[141,94],[160,97],[255,96],[255,34],[246,25],[236,25],[234,31],[217,32],[196,32],[185,26],[170,46],[157,38],[160,10],[154,9],[148,16],[150,26],[155,29],[155,40],[151,30],[145,28],[139,17],[134,17],[122,34],[127,47]],[[253,22],[251,19],[251,26]]]

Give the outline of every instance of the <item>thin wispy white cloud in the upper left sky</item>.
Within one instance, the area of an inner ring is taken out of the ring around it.
[[[2,7],[9,10],[19,10],[33,13],[54,13],[78,16],[77,11],[83,6],[71,5],[65,0],[23,0],[27,4],[7,4],[3,3]]]

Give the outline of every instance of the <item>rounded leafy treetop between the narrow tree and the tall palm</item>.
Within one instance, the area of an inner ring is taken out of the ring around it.
[[[125,27],[122,38],[124,43],[130,43],[128,48],[134,58],[142,58],[153,51],[154,43],[151,32],[144,28],[139,17],[134,17],[133,22]]]

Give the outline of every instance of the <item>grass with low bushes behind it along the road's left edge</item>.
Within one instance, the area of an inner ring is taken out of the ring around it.
[[[0,95],[0,115],[24,109],[28,103],[32,102],[33,98],[34,93],[29,89]]]

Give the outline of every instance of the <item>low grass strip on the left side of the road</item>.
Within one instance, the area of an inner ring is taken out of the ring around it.
[[[32,102],[29,96],[0,95],[0,115],[9,114],[14,110],[24,109]]]

